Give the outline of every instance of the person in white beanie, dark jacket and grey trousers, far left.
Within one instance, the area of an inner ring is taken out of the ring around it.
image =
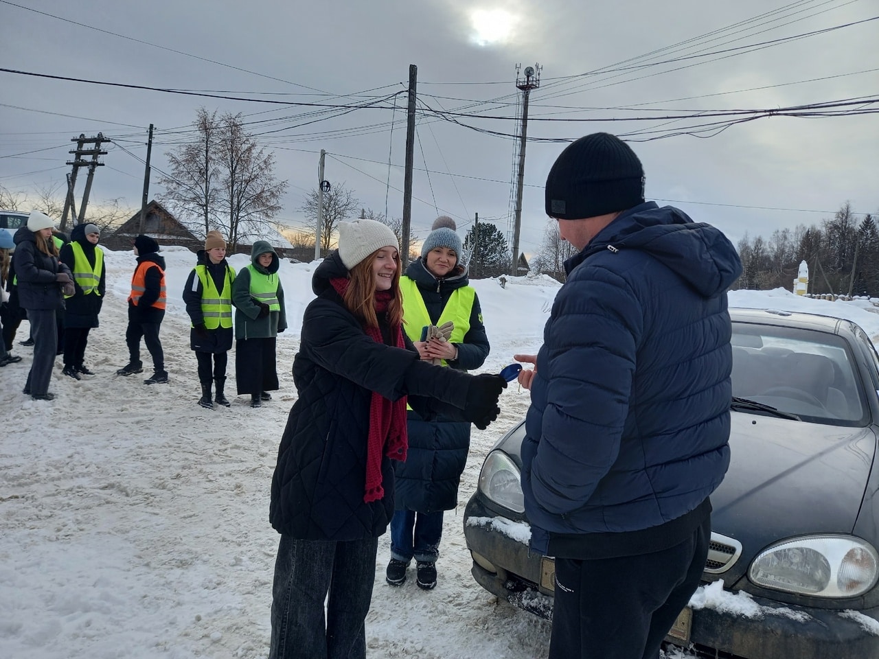
[[[32,211],[27,224],[15,233],[15,272],[18,299],[27,310],[33,336],[33,363],[27,373],[25,395],[35,401],[51,401],[49,380],[58,351],[55,316],[64,306],[64,294],[72,294],[73,277],[67,265],[58,260],[52,240],[54,221],[40,211]]]

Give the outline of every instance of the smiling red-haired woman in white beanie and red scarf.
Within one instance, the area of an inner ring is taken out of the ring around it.
[[[485,428],[506,382],[431,366],[402,329],[396,236],[372,220],[339,225],[302,318],[290,409],[272,476],[281,534],[271,659],[363,659],[378,538],[394,513],[392,460],[406,458],[406,402]],[[324,608],[324,603],[325,608]]]

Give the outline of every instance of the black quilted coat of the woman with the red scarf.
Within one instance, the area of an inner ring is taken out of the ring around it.
[[[410,350],[401,350],[366,334],[331,286],[330,279],[346,276],[334,251],[312,279],[317,298],[305,310],[293,363],[299,397],[272,476],[272,526],[301,540],[361,540],[387,530],[394,514],[388,458],[381,460],[384,496],[363,501],[373,391],[391,401],[408,394],[428,417],[463,409],[467,400],[469,375],[419,360],[408,339]]]

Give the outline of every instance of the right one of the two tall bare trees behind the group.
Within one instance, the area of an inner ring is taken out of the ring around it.
[[[225,216],[222,227],[234,250],[241,238],[263,235],[265,228],[271,226],[272,218],[280,212],[280,198],[287,191],[287,181],[274,176],[274,155],[266,153],[244,131],[240,113],[223,115],[221,134],[219,206]]]

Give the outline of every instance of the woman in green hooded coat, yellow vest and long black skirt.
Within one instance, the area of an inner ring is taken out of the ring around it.
[[[235,381],[238,395],[251,395],[251,408],[271,401],[278,389],[275,344],[287,329],[280,260],[272,245],[258,240],[251,248],[251,264],[238,271],[232,285],[235,305]]]

